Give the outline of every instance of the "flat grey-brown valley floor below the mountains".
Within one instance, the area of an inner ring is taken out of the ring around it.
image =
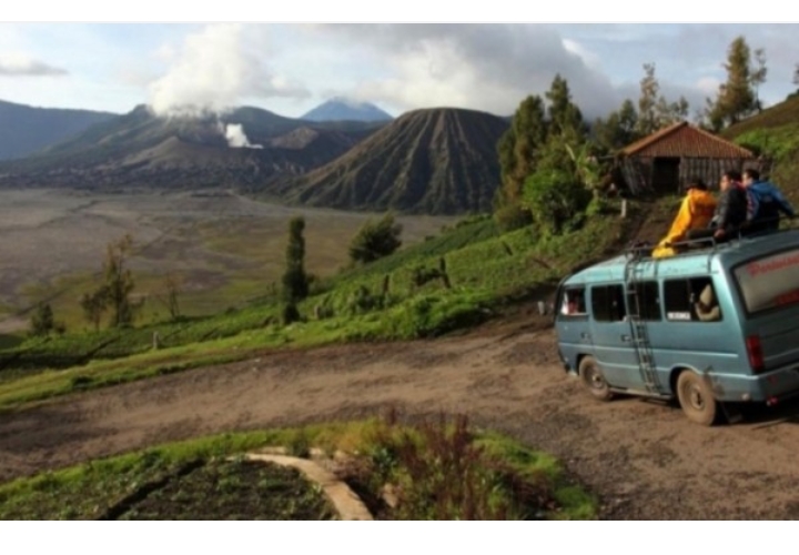
[[[0,190],[0,333],[27,325],[21,311],[41,300],[77,319],[78,299],[100,278],[107,245],[127,233],[134,239],[131,268],[139,294],[152,293],[160,276],[178,273],[186,312],[244,302],[280,278],[287,221],[299,214],[306,220],[306,266],[317,275],[341,268],[357,229],[380,216],[267,204],[226,192]],[[398,220],[403,241],[412,243],[457,219]]]

